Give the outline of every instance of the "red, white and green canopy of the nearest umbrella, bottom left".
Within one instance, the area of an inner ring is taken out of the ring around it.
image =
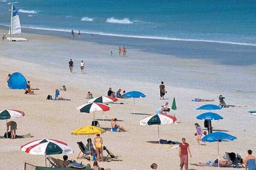
[[[58,142],[43,142],[26,148],[25,152],[31,155],[57,155],[61,153],[71,154],[73,149]]]

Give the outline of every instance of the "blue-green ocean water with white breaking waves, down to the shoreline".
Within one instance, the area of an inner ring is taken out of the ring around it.
[[[27,28],[256,46],[255,0],[0,0]]]

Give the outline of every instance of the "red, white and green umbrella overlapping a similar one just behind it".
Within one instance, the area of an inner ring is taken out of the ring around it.
[[[102,116],[104,118],[104,111],[109,111],[110,110],[110,106],[103,104],[103,103],[88,103],[85,105],[81,105],[79,107],[76,108],[77,110],[79,110],[81,113],[91,113],[93,112],[93,120],[95,120],[95,116],[94,116],[94,112],[95,111],[102,111]]]

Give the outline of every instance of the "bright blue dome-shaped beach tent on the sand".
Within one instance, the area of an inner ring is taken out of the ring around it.
[[[21,73],[13,73],[9,78],[8,87],[11,89],[25,89],[26,86],[26,78]]]

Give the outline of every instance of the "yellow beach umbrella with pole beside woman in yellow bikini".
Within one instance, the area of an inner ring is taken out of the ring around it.
[[[96,126],[84,126],[79,127],[76,130],[72,131],[72,135],[88,135],[90,139],[90,135],[102,134],[105,133],[106,130],[96,127]],[[89,152],[90,152],[90,140],[89,140]]]

